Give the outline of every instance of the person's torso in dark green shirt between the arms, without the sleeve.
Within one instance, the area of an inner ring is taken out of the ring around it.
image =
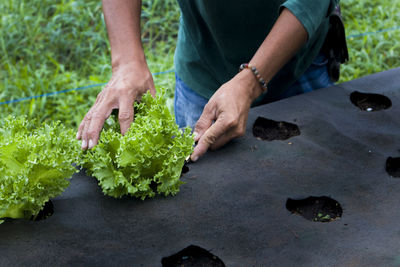
[[[237,73],[240,64],[251,60],[285,1],[178,2],[182,15],[175,54],[176,71],[194,91],[209,98]],[[286,72],[295,71],[293,68],[296,66]]]

